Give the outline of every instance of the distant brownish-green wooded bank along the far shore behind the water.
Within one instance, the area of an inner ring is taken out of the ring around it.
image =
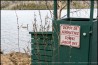
[[[66,4],[67,1],[62,2]],[[59,4],[59,3],[58,3]],[[97,8],[97,3],[95,2],[95,8]],[[14,5],[14,6],[12,6]],[[65,6],[63,9],[66,9]],[[72,1],[71,8],[83,9],[90,8],[89,1]],[[53,1],[1,1],[1,9],[10,9],[10,10],[53,10]]]

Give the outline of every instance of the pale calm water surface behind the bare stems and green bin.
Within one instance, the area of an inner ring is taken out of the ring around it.
[[[74,10],[73,10],[74,11]],[[45,16],[48,15],[51,24],[52,18],[48,10],[41,10],[41,18],[43,25],[45,24]],[[40,25],[40,17],[38,10],[16,10],[19,19],[19,47],[21,52],[23,49],[29,47],[31,49],[30,34],[29,31],[33,30],[34,14],[36,14],[36,20],[38,28]],[[66,11],[62,11],[62,17],[66,15]],[[77,13],[71,13],[72,17],[89,17],[89,10],[83,9]],[[97,9],[94,10],[94,18],[97,16]],[[65,16],[66,17],[66,16]],[[28,30],[21,27],[28,24]],[[52,24],[51,24],[52,25]],[[51,31],[51,27],[49,31]],[[17,18],[15,10],[1,10],[1,50],[6,52],[18,51],[18,29],[17,29]]]

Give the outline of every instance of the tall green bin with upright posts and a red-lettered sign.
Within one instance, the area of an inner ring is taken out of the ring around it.
[[[94,1],[91,0],[90,18],[72,18],[68,0],[67,18],[57,20],[57,1],[54,0],[55,65],[97,65],[98,21],[93,19],[93,10]]]

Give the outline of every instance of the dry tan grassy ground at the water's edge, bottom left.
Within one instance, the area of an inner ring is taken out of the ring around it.
[[[11,52],[1,54],[1,65],[31,65],[31,57],[29,54],[21,52]]]

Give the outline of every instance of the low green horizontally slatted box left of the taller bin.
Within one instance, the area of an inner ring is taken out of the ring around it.
[[[47,65],[52,62],[52,32],[29,32],[31,34],[32,65]]]

